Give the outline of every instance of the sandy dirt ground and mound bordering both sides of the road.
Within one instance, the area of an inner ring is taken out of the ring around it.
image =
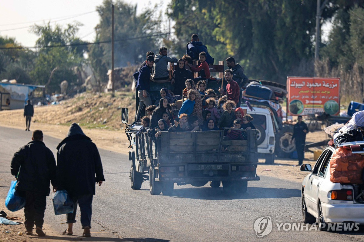
[[[63,139],[69,125],[77,122],[99,148],[127,154],[129,141],[124,133],[125,126],[121,124],[120,113],[121,108],[127,107],[132,120],[135,116],[134,105],[135,99],[130,93],[117,92],[115,97],[111,94],[99,96],[82,93],[61,101],[58,105],[35,107],[31,130],[41,129],[45,135]],[[1,111],[0,126],[25,129],[23,110]],[[321,140],[325,140],[323,131],[308,133],[306,138],[307,142]],[[314,164],[312,153],[306,152],[305,158],[305,163]],[[276,158],[274,165],[265,165],[264,160],[260,160],[257,173],[301,182],[307,173],[301,172],[299,167],[295,166],[297,164],[297,160]]]

